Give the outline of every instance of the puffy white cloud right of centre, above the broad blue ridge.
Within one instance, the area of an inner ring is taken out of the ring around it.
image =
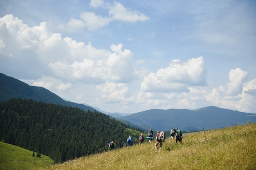
[[[150,73],[141,83],[144,92],[188,91],[187,86],[207,85],[203,57],[181,63],[173,60],[167,68]]]

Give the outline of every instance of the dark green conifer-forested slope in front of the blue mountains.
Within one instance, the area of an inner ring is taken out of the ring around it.
[[[0,139],[63,162],[122,147],[128,135],[140,132],[96,111],[83,111],[31,99],[0,102]]]

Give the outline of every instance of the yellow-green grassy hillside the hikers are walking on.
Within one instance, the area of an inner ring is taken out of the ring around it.
[[[155,152],[154,144],[144,143],[43,169],[255,170],[256,124],[187,133],[183,144],[166,139],[161,153]]]

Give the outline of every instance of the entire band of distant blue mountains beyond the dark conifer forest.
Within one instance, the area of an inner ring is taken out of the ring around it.
[[[15,78],[0,73],[0,101],[11,98],[27,98],[64,106],[79,107],[85,111],[98,110],[130,125],[148,129],[169,131],[178,127],[184,131],[218,129],[236,124],[246,124],[247,121],[256,122],[256,114],[222,109],[214,106],[196,110],[189,109],[150,109],[138,113],[109,113],[99,108],[84,104],[65,101],[56,94],[43,87],[27,85]]]

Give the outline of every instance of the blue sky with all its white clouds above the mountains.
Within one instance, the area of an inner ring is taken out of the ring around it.
[[[1,0],[0,72],[111,113],[256,113],[256,1]]]

